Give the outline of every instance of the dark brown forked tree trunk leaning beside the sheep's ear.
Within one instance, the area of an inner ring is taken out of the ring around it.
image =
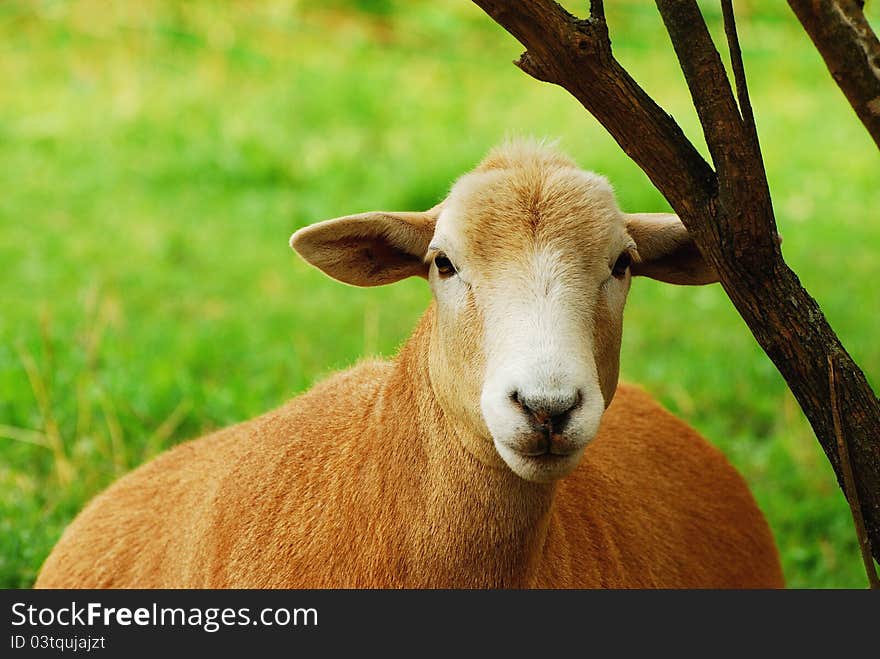
[[[782,258],[757,134],[740,114],[696,2],[657,0],[657,6],[717,174],[614,59],[600,1],[591,2],[588,19],[552,0],[474,2],[525,46],[517,65],[580,101],[679,214],[785,378],[843,487],[828,385],[832,360],[841,431],[865,527],[880,559],[880,401]]]

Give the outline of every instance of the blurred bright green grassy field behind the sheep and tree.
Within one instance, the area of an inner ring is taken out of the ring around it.
[[[702,149],[652,3],[607,4],[619,59]],[[759,4],[741,38],[784,253],[876,388],[880,157],[787,8]],[[288,248],[298,227],[427,208],[511,135],[666,209],[518,53],[468,2],[0,4],[0,586],[29,586],[135,465],[394,353],[424,283],[331,282]],[[831,469],[719,287],[637,282],[622,370],[742,470],[791,586],[865,584]]]

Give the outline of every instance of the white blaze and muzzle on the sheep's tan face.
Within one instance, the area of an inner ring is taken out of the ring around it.
[[[549,481],[577,466],[605,411],[593,305],[573,285],[583,273],[571,272],[575,266],[560,253],[538,249],[518,267],[500,278],[484,309],[480,409],[508,466],[527,480]]]

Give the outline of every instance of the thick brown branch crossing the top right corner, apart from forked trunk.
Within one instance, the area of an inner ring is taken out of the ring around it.
[[[788,0],[880,149],[880,41],[858,0]]]

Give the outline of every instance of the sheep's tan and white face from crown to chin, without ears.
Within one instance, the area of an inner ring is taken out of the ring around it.
[[[577,466],[617,386],[635,248],[596,175],[545,164],[458,181],[428,248],[430,367],[473,453],[532,481]]]

